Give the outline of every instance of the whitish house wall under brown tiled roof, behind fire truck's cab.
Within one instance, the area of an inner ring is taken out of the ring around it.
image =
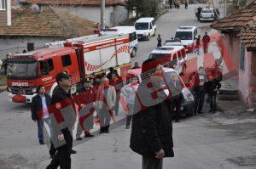
[[[0,37],[0,59],[5,58],[8,52],[22,53],[27,50],[27,43],[34,43],[34,48],[42,48],[46,42],[53,42],[49,37]]]

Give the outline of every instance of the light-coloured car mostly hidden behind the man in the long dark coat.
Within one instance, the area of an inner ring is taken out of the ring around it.
[[[177,74],[176,70],[173,70],[172,68],[163,68],[163,70],[164,70],[165,78],[170,77],[172,73],[175,73],[177,75],[179,82],[183,87],[181,112],[184,115],[188,115],[188,116],[193,115],[195,100],[194,100],[193,94],[189,91],[189,88],[185,86],[183,79]],[[127,82],[130,82],[129,79],[131,79],[131,78],[129,78],[129,77],[131,77],[131,76],[138,76],[139,82],[142,82],[141,74],[142,74],[141,68],[128,70],[127,71],[127,75],[128,75]],[[168,95],[169,90],[166,89],[165,93],[166,93],[166,95]]]

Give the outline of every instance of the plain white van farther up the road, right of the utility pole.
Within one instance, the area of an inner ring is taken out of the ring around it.
[[[149,40],[155,35],[156,24],[154,18],[140,18],[135,22],[135,29],[138,39]]]

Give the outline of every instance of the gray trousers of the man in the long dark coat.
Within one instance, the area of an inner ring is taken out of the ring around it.
[[[143,156],[143,169],[162,169],[163,159]]]

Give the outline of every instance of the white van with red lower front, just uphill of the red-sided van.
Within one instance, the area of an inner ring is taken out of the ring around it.
[[[174,39],[179,39],[183,47],[187,49],[188,53],[193,52],[195,41],[197,37],[196,26],[179,26],[175,33]]]

